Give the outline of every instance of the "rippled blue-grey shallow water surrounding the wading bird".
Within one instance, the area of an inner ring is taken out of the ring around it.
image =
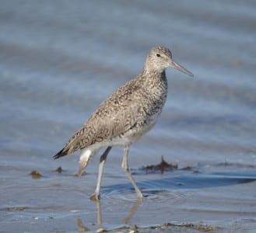
[[[0,231],[165,223],[254,231],[255,6],[254,1],[2,1]],[[110,92],[139,74],[156,45],[170,47],[174,60],[195,78],[167,70],[169,94],[160,120],[130,148],[129,165],[146,198],[136,201],[121,169],[123,149],[114,148],[99,207],[89,200],[99,156],[80,178],[73,176],[79,154],[56,161],[52,156]],[[140,169],[159,163],[161,155],[179,169],[163,174]],[[182,169],[186,166],[191,170]],[[42,177],[32,179],[33,170]]]

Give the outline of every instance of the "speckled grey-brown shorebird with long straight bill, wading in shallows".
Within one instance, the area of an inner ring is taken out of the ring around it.
[[[96,190],[91,196],[92,200],[100,199],[103,166],[113,146],[124,147],[121,166],[135,188],[138,198],[142,199],[142,192],[129,172],[128,149],[155,125],[162,112],[167,99],[168,85],[165,70],[168,67],[194,76],[173,60],[169,49],[153,47],[149,50],[142,72],[104,100],[65,147],[54,155],[54,158],[60,158],[81,150],[77,175],[82,176],[93,156],[100,148],[107,147],[100,157]]]

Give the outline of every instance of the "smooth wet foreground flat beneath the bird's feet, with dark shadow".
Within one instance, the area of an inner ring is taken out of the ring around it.
[[[237,172],[238,168],[244,172]],[[145,195],[139,201],[121,169],[112,172],[110,165],[103,178],[100,203],[89,200],[96,172],[75,177],[69,169],[61,173],[40,169],[41,177],[35,179],[29,170],[17,170],[1,167],[5,187],[1,191],[5,196],[1,225],[9,232],[70,232],[81,228],[130,232],[136,227],[138,232],[155,232],[155,228],[225,232],[253,231],[256,224],[252,192],[256,174],[251,166],[198,165],[163,173],[133,170]]]

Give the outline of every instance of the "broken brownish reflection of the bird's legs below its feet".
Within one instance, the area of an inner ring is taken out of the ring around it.
[[[102,214],[101,214],[100,200],[96,200],[95,203],[96,203],[96,210],[97,210],[97,224],[98,224],[99,228],[102,228]],[[125,217],[125,219],[124,219],[124,224],[129,224],[132,217],[136,213],[140,203],[142,203],[141,199],[137,199],[137,200],[135,200],[134,203],[132,203],[132,207],[128,211],[128,216]],[[90,231],[89,228],[87,228],[85,225],[82,224],[82,219],[80,217],[77,218],[77,226],[78,226],[78,231],[79,232]]]

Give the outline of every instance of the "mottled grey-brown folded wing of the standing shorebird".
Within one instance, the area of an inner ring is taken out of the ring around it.
[[[135,79],[121,86],[110,95],[93,113],[85,125],[78,130],[54,158],[71,155],[96,142],[108,140],[124,134],[143,121],[142,105],[139,98],[142,92]]]

